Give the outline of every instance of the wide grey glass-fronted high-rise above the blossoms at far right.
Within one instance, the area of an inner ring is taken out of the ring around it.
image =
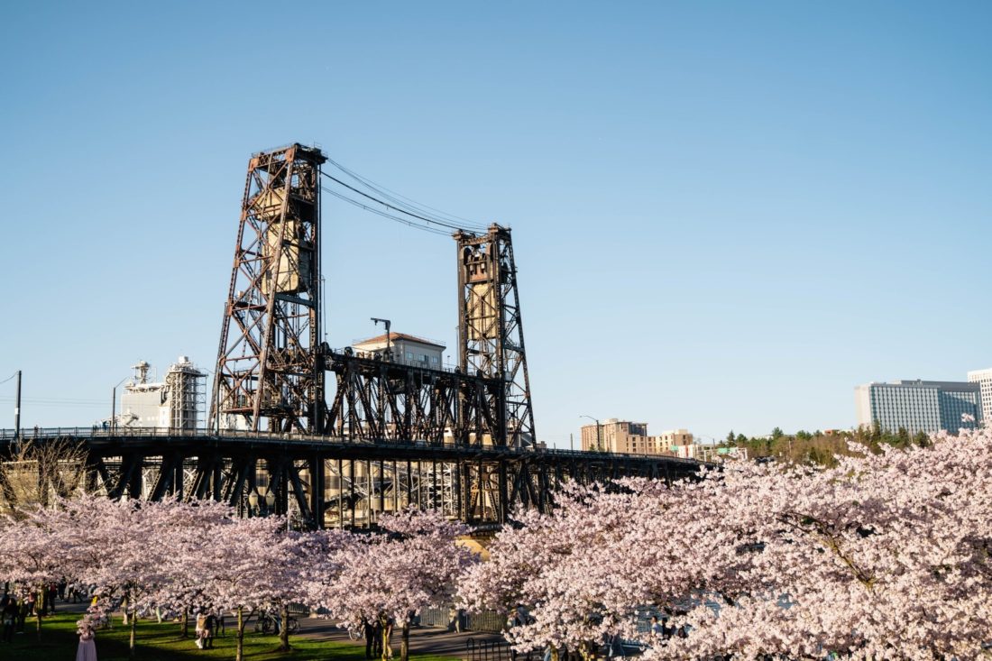
[[[894,381],[867,383],[854,389],[860,427],[933,434],[975,429],[982,417],[979,386],[959,381]],[[972,421],[964,421],[963,415]]]

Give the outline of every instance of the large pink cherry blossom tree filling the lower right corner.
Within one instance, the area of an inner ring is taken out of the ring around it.
[[[712,480],[746,561],[664,658],[974,658],[992,630],[992,433],[830,469],[740,464]],[[742,581],[743,578],[743,581]],[[734,583],[731,583],[731,579]]]

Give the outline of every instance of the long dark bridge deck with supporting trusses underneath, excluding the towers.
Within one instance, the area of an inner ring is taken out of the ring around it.
[[[88,487],[109,497],[212,498],[245,516],[286,514],[300,528],[371,526],[410,506],[498,525],[515,508],[547,511],[565,480],[671,481],[698,468],[673,457],[230,430],[52,428],[20,441],[56,439],[85,448]],[[0,444],[12,447],[14,430],[0,430]],[[48,487],[60,490],[56,480]]]

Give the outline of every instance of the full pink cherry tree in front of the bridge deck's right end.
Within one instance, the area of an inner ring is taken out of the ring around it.
[[[549,514],[519,514],[496,535],[490,561],[471,568],[460,598],[470,610],[510,612],[518,651],[551,647],[592,659],[606,638],[632,638],[648,604],[672,604],[716,571],[687,562],[705,549],[728,558],[714,517],[691,483],[625,480],[566,487]],[[515,611],[526,614],[515,616]],[[522,620],[522,621],[519,621]]]

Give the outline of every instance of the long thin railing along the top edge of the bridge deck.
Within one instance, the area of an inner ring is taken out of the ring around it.
[[[0,442],[11,442],[17,438],[13,429],[0,429]],[[318,443],[332,444],[352,447],[383,447],[406,448],[406,449],[450,449],[450,450],[494,450],[500,452],[511,452],[520,455],[541,454],[558,458],[582,458],[588,460],[590,457],[599,456],[602,458],[630,458],[634,460],[664,459],[671,463],[684,463],[685,465],[698,465],[697,460],[683,459],[679,457],[658,456],[658,455],[632,455],[625,453],[592,452],[583,450],[559,450],[558,448],[503,448],[499,446],[465,446],[454,441],[444,441],[443,443],[431,443],[423,440],[411,441],[366,441],[355,440],[344,436],[322,436],[299,434],[296,432],[273,433],[273,432],[252,432],[247,430],[223,430],[220,434],[209,429],[170,429],[163,427],[118,427],[117,429],[104,429],[103,427],[34,427],[22,429],[20,438],[22,441],[41,439],[202,439],[203,441],[216,441],[218,439],[245,439],[263,443]]]

